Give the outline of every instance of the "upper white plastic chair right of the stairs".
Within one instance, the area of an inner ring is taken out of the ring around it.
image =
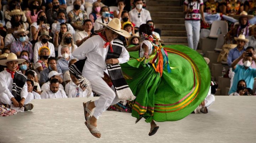
[[[226,34],[228,33],[228,23],[225,21],[214,21],[212,23],[212,28],[210,30],[209,38],[218,38],[218,29],[220,28],[220,34]]]

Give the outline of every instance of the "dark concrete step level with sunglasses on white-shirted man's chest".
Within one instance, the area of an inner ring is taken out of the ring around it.
[[[183,12],[150,11],[151,17],[185,18]]]

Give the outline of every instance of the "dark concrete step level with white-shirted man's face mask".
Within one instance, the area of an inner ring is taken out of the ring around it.
[[[146,9],[148,11],[169,11],[169,12],[183,12],[183,8],[181,6],[149,6],[148,2],[146,3]]]

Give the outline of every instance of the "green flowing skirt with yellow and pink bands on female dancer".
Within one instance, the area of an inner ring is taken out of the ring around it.
[[[198,52],[183,45],[164,47],[172,69],[168,73],[165,67],[161,77],[152,65],[136,59],[138,52],[129,52],[134,59],[121,64],[136,96],[132,116],[143,116],[146,122],[185,118],[204,100],[210,87],[209,67]]]

